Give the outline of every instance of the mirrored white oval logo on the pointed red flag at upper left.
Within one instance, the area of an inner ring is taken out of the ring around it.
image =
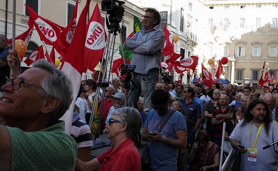
[[[39,29],[44,34],[46,39],[50,40],[51,42],[54,42],[57,40],[56,32],[53,30],[53,28],[49,24],[47,24],[41,18],[37,18],[35,20],[35,22],[39,26]]]

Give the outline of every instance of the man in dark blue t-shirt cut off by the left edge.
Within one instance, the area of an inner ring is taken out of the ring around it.
[[[7,37],[0,34],[0,88],[7,83],[7,78],[10,77],[10,67],[7,63],[10,45]]]

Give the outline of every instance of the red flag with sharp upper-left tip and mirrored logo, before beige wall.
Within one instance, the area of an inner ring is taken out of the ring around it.
[[[54,24],[48,19],[45,19],[36,14],[36,12],[34,12],[26,4],[25,6],[29,12],[29,17],[32,18],[32,20],[34,21],[34,25],[37,32],[39,33],[41,40],[44,41],[47,45],[53,45],[53,43],[58,40],[57,37],[61,32],[61,28],[58,27],[57,24]]]

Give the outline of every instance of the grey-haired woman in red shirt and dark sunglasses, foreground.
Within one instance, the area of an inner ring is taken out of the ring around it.
[[[132,138],[140,131],[141,125],[138,110],[129,107],[115,109],[106,125],[113,147],[91,161],[82,162],[77,159],[76,170],[140,171],[140,154]]]

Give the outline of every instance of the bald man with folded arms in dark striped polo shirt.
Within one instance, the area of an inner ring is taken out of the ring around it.
[[[221,95],[219,98],[220,108],[215,109],[212,114],[211,124],[216,125],[215,143],[221,147],[223,122],[232,119],[233,110],[228,107],[229,98],[227,95]]]

